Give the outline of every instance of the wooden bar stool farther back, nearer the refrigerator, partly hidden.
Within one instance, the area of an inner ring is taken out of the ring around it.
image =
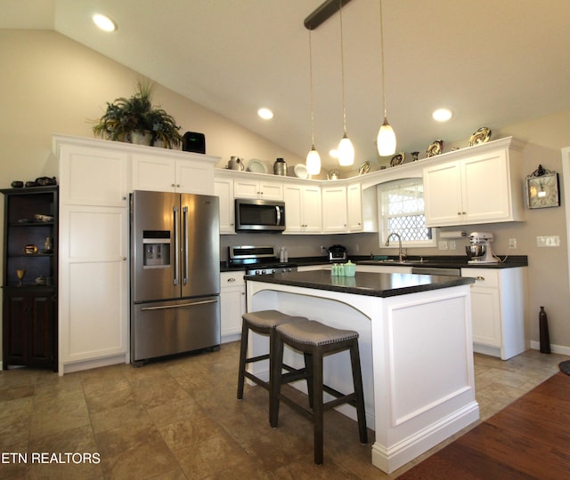
[[[255,382],[257,385],[271,391],[272,384],[272,364],[273,353],[275,351],[275,327],[281,324],[291,322],[308,322],[305,316],[290,316],[281,313],[278,310],[260,310],[258,312],[248,312],[241,316],[241,346],[240,346],[240,372],[238,375],[238,398],[243,398],[243,386],[246,377]],[[269,352],[265,355],[252,356],[248,358],[248,337],[249,331],[253,331],[262,335],[269,335]],[[256,375],[246,370],[246,366],[253,362],[261,362],[262,360],[269,360],[269,382],[260,379]],[[289,365],[283,365],[284,369],[289,372],[294,371]]]

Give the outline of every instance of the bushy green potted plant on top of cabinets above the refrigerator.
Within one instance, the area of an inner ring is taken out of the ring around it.
[[[119,97],[107,102],[107,110],[94,125],[96,137],[107,140],[129,141],[177,148],[182,142],[173,116],[163,108],[153,107],[152,85],[137,82],[137,91],[130,98]],[[146,140],[141,140],[146,139]]]

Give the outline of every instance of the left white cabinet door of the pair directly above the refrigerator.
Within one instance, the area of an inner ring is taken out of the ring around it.
[[[175,161],[159,156],[133,156],[133,189],[154,192],[174,192]]]

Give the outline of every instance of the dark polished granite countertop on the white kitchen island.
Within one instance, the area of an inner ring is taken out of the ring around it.
[[[331,276],[328,270],[245,276],[245,278],[248,282],[282,284],[382,298],[475,283],[474,278],[462,276],[366,272],[356,272],[355,276]]]

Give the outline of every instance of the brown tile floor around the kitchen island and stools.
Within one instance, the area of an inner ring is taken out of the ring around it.
[[[395,478],[421,460],[387,476],[371,466],[371,444],[358,442],[355,423],[330,411],[325,462],[315,466],[305,418],[282,405],[280,428],[272,429],[264,389],[246,387],[244,400],[236,400],[238,354],[234,342],[142,368],[120,364],[63,377],[1,372],[0,478],[378,479]],[[566,359],[534,350],[507,362],[476,355],[482,420]],[[46,456],[38,460],[41,452]],[[80,455],[66,456],[73,452]]]

